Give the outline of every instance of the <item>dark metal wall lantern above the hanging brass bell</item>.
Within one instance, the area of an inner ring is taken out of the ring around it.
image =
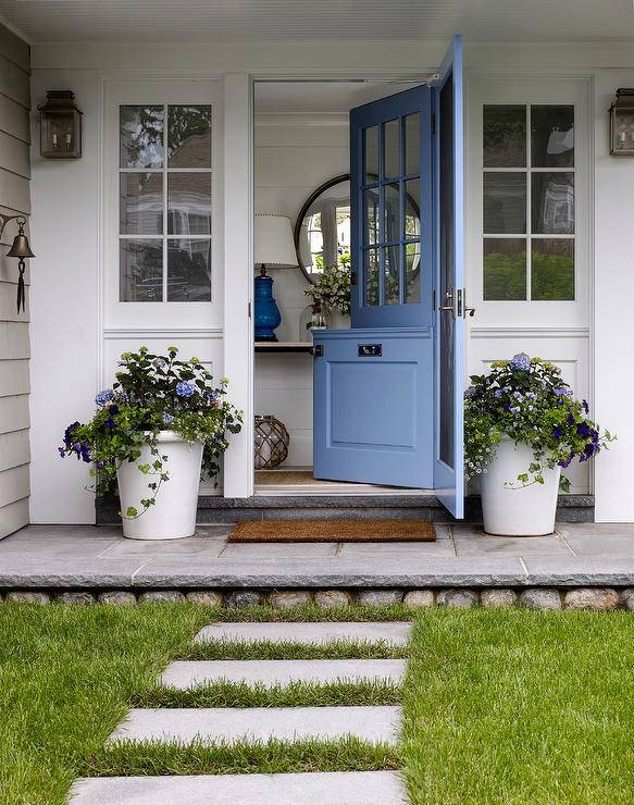
[[[39,109],[39,152],[45,159],[79,159],[82,114],[70,89],[47,92]]]

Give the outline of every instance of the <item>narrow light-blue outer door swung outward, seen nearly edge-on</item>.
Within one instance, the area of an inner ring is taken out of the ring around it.
[[[463,125],[462,37],[456,36],[434,87],[436,120],[436,383],[434,490],[464,516],[463,445]]]

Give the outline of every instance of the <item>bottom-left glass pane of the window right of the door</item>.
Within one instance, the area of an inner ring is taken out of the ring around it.
[[[485,300],[526,298],[525,238],[484,239],[484,298]]]

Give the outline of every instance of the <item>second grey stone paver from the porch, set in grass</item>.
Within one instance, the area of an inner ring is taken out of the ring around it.
[[[359,682],[377,680],[400,684],[405,659],[250,659],[191,660],[171,662],[161,684],[187,690],[226,680],[263,684],[266,688],[291,682]]]

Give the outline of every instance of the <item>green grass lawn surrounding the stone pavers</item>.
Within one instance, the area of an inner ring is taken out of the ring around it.
[[[634,781],[632,656],[625,612],[426,610],[415,616],[402,692],[388,686],[298,685],[250,692],[210,685],[166,694],[156,678],[192,654],[217,619],[401,619],[403,608],[324,614],[311,607],[247,611],[186,605],[117,608],[0,605],[0,803],[62,803],[87,773],[196,773],[401,766],[418,803],[625,803]],[[262,646],[264,656],[277,656]],[[207,654],[206,654],[207,652]],[[289,656],[286,646],[281,656]],[[398,656],[341,644],[314,656]],[[235,644],[197,658],[250,656]],[[262,655],[261,655],[262,656]],[[296,655],[297,656],[297,655]],[[257,747],[104,750],[134,704],[285,706],[386,704],[401,695],[398,752],[360,742]]]

